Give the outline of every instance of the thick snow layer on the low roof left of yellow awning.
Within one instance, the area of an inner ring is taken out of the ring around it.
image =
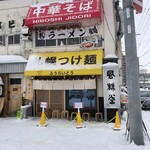
[[[0,64],[4,63],[25,63],[27,60],[18,55],[0,55]]]

